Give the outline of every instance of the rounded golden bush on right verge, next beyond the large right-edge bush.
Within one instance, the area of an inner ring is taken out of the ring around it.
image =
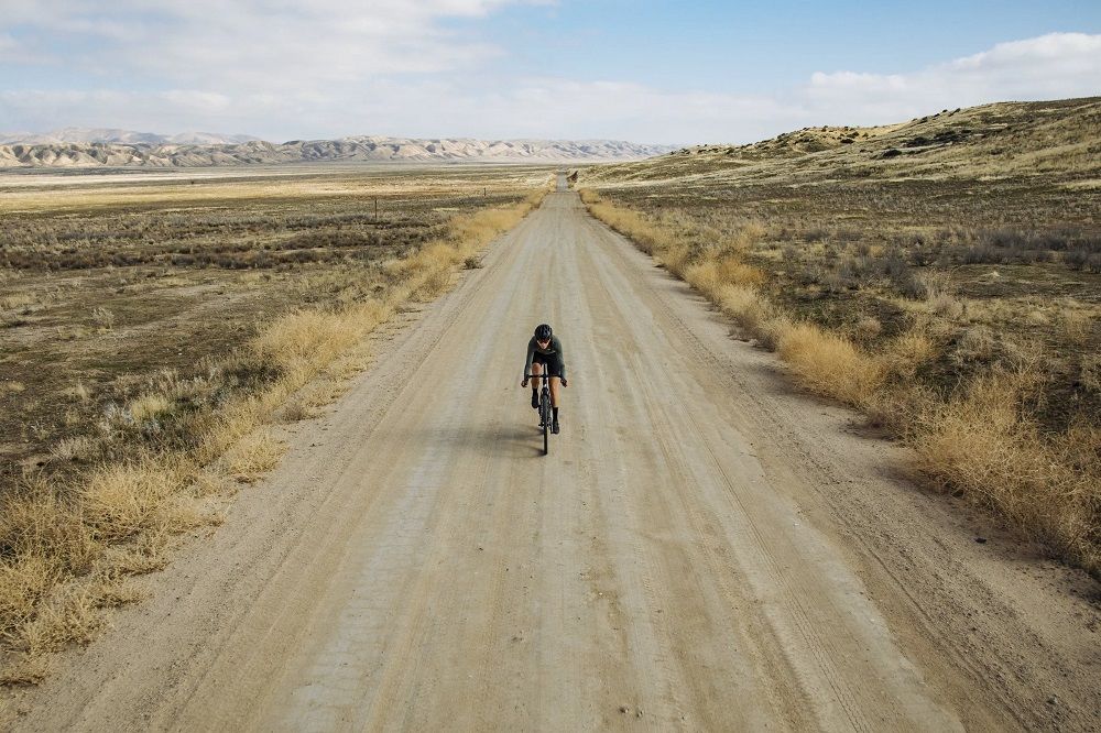
[[[781,358],[805,387],[851,405],[863,404],[883,384],[883,366],[848,339],[818,326],[788,326],[778,339]]]

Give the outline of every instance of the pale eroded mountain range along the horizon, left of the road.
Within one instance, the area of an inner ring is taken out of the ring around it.
[[[352,136],[271,143],[249,135],[65,128],[46,134],[0,133],[0,167],[185,167],[386,162],[637,161],[676,150],[614,140],[470,140]]]

